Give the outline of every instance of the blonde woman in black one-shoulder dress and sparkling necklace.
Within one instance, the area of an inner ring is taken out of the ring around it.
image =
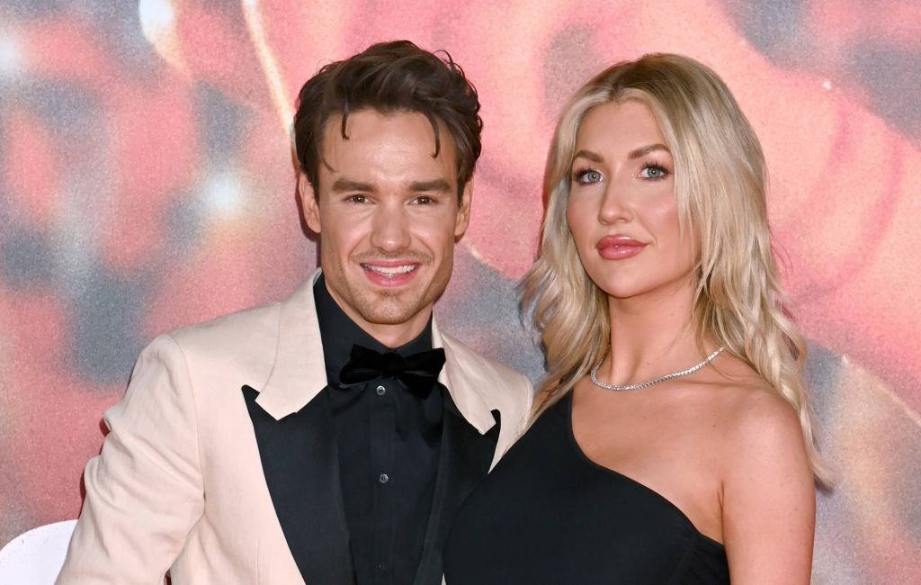
[[[454,521],[448,585],[809,582],[828,473],[765,182],[692,59],[616,64],[569,102],[525,281],[548,380]]]

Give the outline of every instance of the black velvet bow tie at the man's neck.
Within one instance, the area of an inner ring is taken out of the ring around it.
[[[354,386],[375,378],[398,378],[411,391],[426,396],[445,365],[445,350],[437,347],[402,357],[395,351],[380,354],[352,345],[352,354],[339,372],[341,386]]]

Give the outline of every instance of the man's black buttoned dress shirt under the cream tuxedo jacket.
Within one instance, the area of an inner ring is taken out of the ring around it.
[[[412,583],[435,491],[445,388],[435,382],[424,396],[394,378],[344,388],[339,372],[353,345],[402,356],[431,349],[432,322],[413,341],[391,349],[349,319],[322,275],[313,293],[356,583]]]

